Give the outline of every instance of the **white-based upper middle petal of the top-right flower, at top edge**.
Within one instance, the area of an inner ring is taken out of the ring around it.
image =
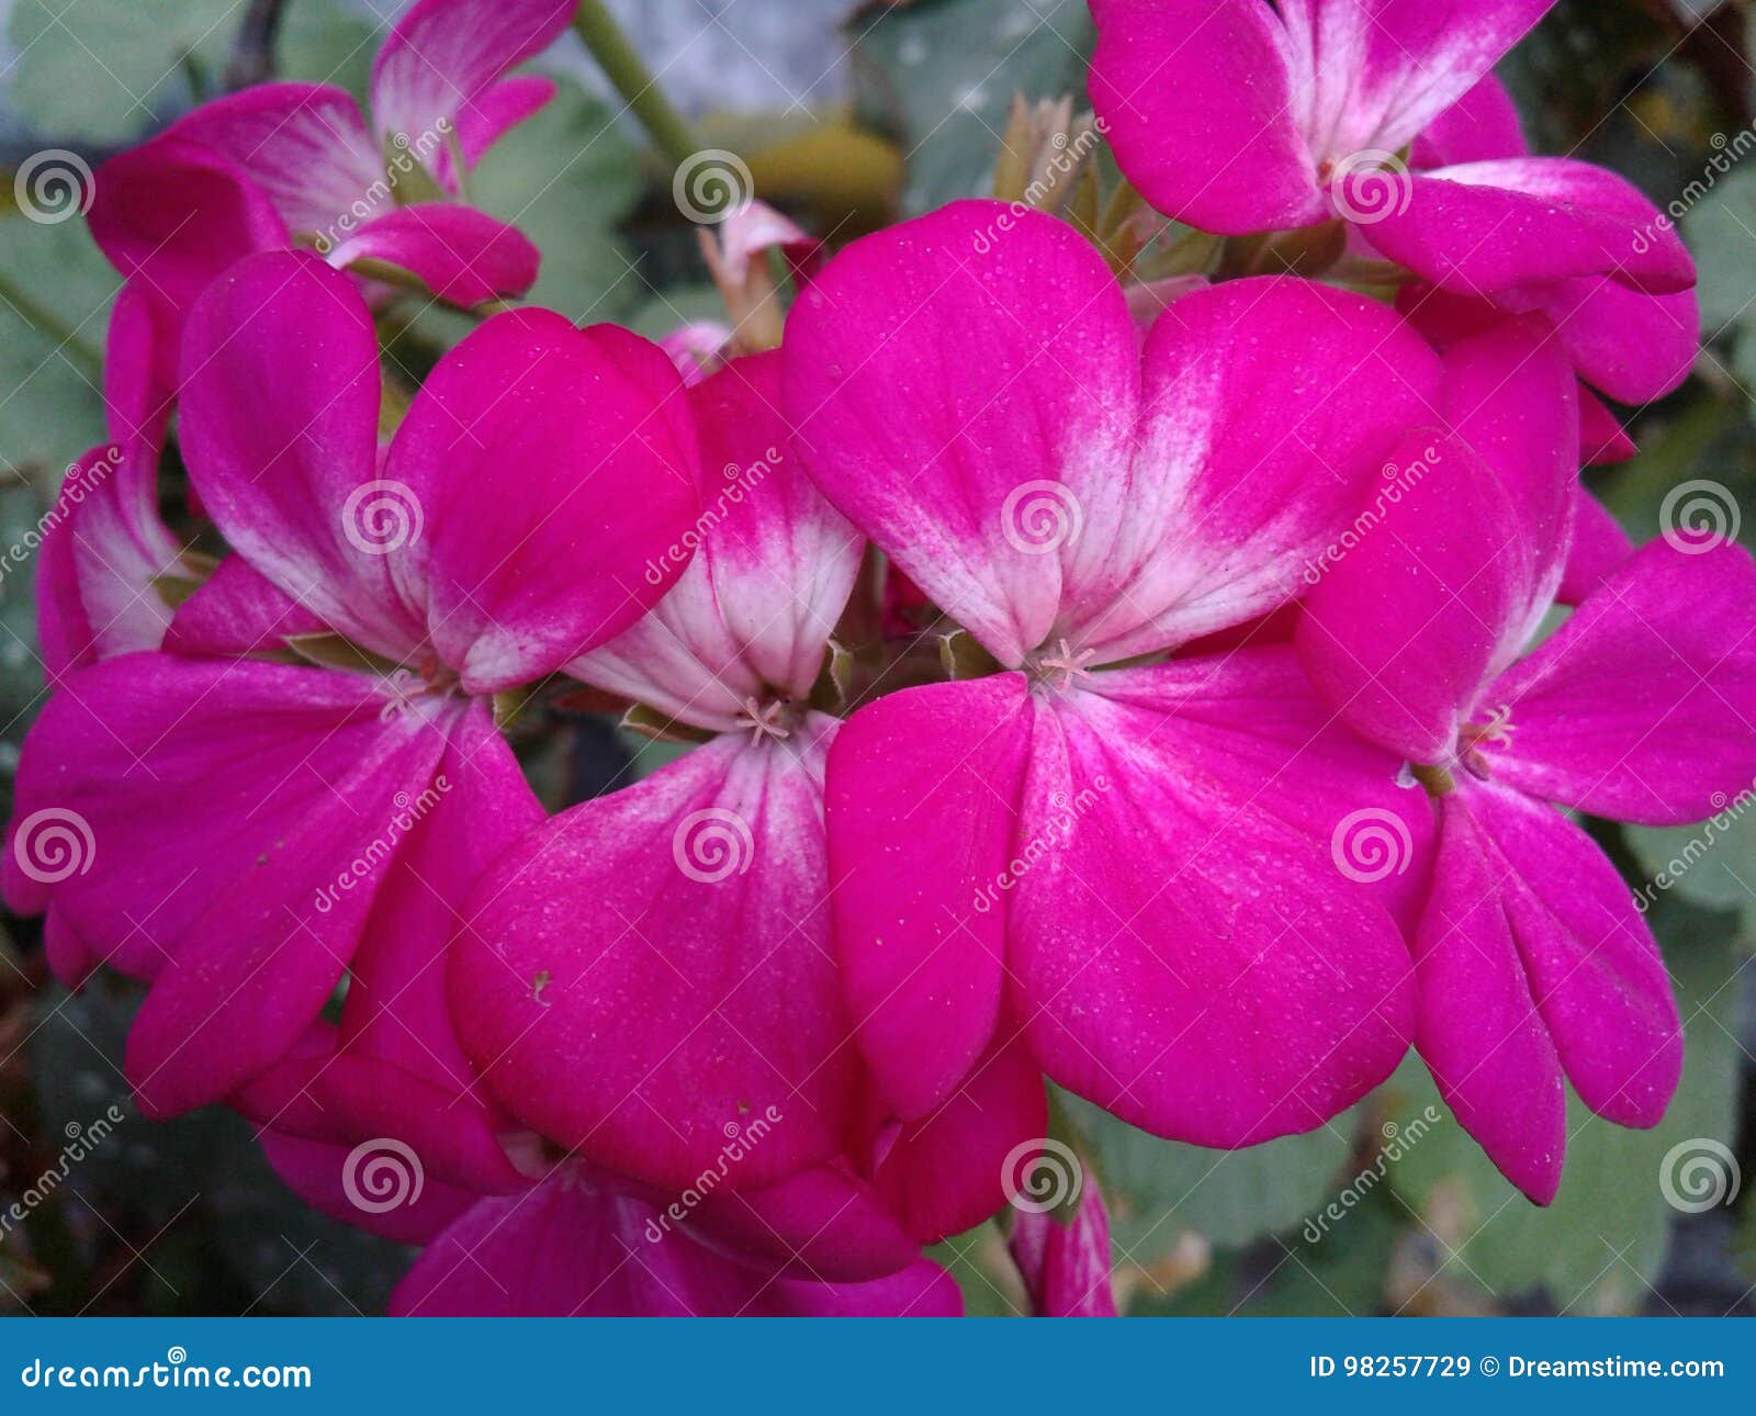
[[[1292,102],[1331,162],[1407,148],[1487,76],[1554,0],[1285,0]]]

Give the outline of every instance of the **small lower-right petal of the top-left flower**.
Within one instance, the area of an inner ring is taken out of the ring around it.
[[[393,207],[339,241],[327,258],[339,271],[360,260],[393,265],[464,309],[523,295],[543,260],[516,227],[444,202]]]

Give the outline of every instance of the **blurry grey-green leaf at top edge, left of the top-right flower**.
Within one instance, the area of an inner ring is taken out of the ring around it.
[[[850,21],[860,118],[908,158],[903,206],[987,195],[1013,93],[1085,104],[1085,0],[920,0]]]

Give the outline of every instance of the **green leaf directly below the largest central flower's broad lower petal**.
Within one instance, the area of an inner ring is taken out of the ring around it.
[[[1110,1202],[1117,1254],[1152,1263],[1192,1230],[1213,1244],[1249,1244],[1292,1230],[1336,1189],[1357,1116],[1245,1151],[1159,1140],[1101,1107],[1057,1095],[1092,1149]]]

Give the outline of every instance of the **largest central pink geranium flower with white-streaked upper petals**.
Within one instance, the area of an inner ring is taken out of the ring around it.
[[[1408,956],[1326,843],[1407,806],[1394,762],[1328,729],[1284,647],[1127,661],[1298,594],[1429,416],[1433,353],[1291,279],[1189,293],[1141,351],[1073,228],[964,202],[836,256],[783,355],[811,476],[997,666],[880,699],[829,752],[836,943],[885,1100],[929,1114],[1008,1012],[1057,1082],[1199,1144],[1382,1080]]]

